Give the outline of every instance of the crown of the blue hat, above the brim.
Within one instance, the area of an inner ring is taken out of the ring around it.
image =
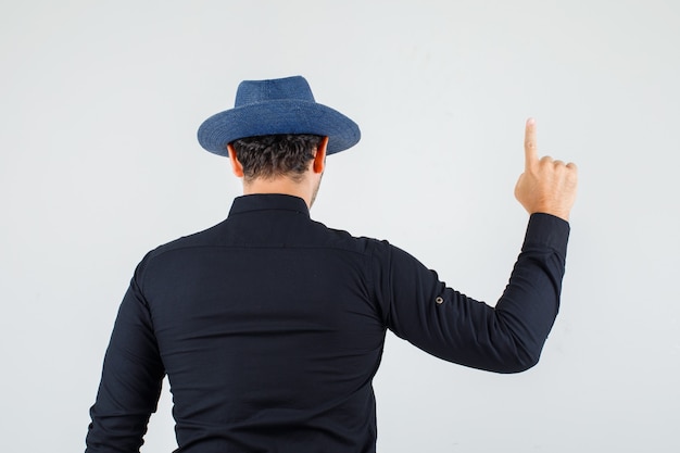
[[[302,76],[270,80],[243,80],[236,91],[235,108],[274,100],[315,102],[310,84]]]

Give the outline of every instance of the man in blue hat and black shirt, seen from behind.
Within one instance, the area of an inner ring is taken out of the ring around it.
[[[559,304],[576,168],[526,130],[516,197],[530,213],[495,309],[404,251],[310,218],[326,155],[358,127],[302,77],[243,81],[199,141],[243,197],[226,221],[151,251],[121,305],[87,452],[137,452],[167,374],[178,452],[374,452],[372,379],[386,329],[498,373],[537,363]]]

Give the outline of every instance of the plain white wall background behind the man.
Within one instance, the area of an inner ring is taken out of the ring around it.
[[[363,131],[313,217],[490,304],[526,226],[526,117],[580,168],[541,363],[487,374],[390,335],[379,451],[679,451],[678,24],[672,0],[2,1],[2,451],[84,450],[135,265],[239,194],[198,126],[295,74]],[[143,453],[176,448],[169,411],[165,389]]]

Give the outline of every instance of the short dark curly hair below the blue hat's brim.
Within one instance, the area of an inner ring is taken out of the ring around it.
[[[289,176],[300,180],[324,137],[286,134],[247,137],[231,142],[247,181]]]

